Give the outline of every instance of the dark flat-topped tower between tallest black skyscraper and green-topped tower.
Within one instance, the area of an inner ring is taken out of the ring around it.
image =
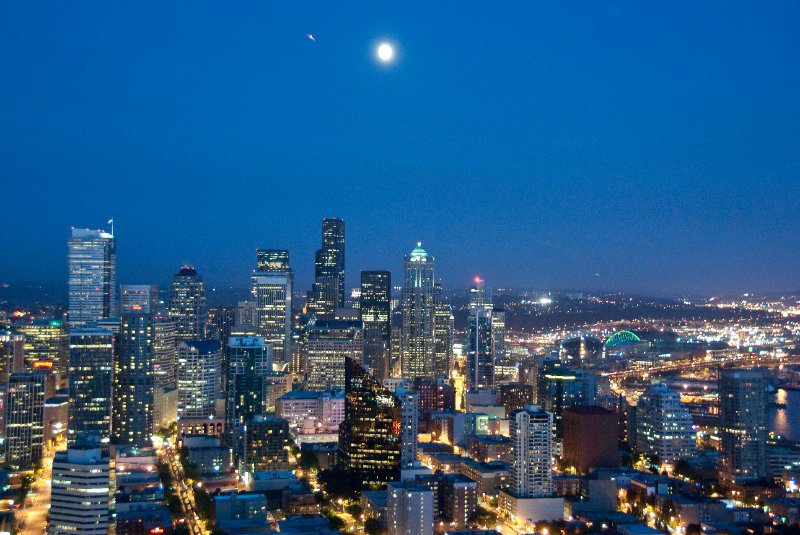
[[[364,363],[379,381],[391,371],[392,274],[389,271],[362,271],[361,328],[364,332]]]

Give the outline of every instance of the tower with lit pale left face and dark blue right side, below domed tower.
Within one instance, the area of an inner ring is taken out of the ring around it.
[[[189,340],[178,345],[178,417],[214,416],[222,391],[222,355],[216,340]]]

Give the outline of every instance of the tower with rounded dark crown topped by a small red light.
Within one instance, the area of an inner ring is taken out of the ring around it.
[[[169,290],[169,317],[175,322],[178,340],[206,337],[206,283],[193,267],[183,266]]]

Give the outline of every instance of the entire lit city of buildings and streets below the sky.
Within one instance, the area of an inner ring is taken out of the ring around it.
[[[6,525],[797,529],[797,296],[447,289],[421,243],[349,289],[341,219],[307,292],[289,251],[253,265],[211,302],[193,266],[117,281],[113,233],[72,229],[67,303],[2,306]]]

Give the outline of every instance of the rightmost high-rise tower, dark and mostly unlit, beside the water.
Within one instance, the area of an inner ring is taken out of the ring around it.
[[[767,475],[766,386],[761,371],[720,370],[722,475],[730,482],[752,482]]]

